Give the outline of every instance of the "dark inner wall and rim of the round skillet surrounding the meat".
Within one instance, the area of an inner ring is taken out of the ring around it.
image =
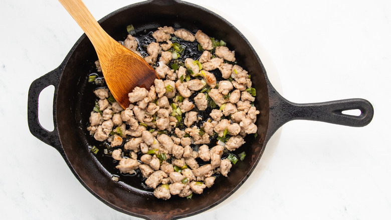
[[[255,105],[261,112],[256,123],[258,136],[254,139],[250,135],[252,138],[246,139],[247,143],[240,150],[244,150],[247,156],[243,162],[233,165],[228,177],[217,178],[212,188],[191,199],[172,196],[167,201],[159,200],[143,190],[136,177],[126,178],[126,183],[112,181],[113,164],[102,163],[89,150],[96,142],[86,130],[95,100],[88,74],[94,70],[97,56],[90,41],[83,36],[67,56],[58,87],[56,118],[66,160],[91,193],[111,207],[136,216],[187,216],[217,205],[232,194],[257,165],[268,128],[266,72],[247,40],[231,24],[205,9],[182,2],[168,2],[171,4],[152,1],[125,7],[102,19],[101,25],[116,40],[124,40],[126,27],[132,24],[136,32],[162,26],[185,28],[192,33],[200,29],[211,37],[226,41],[230,49],[235,50],[238,64],[252,75],[257,92]]]

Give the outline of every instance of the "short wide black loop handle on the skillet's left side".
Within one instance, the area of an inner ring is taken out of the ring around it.
[[[43,141],[44,143],[54,147],[60,153],[62,152],[62,147],[60,143],[60,137],[57,130],[56,118],[53,117],[54,130],[48,131],[43,128],[38,119],[38,98],[41,91],[49,85],[54,85],[54,98],[53,98],[53,116],[55,116],[56,112],[56,94],[57,88],[59,84],[59,76],[62,73],[62,67],[58,67],[51,72],[41,76],[40,78],[34,80],[29,89],[29,97],[28,97],[28,112],[27,118],[29,123],[29,129],[31,134],[33,134],[36,138]]]

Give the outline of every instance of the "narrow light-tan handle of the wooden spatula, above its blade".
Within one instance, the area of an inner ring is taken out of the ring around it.
[[[97,52],[108,42],[115,41],[100,27],[81,0],[59,0],[59,2],[83,29]]]

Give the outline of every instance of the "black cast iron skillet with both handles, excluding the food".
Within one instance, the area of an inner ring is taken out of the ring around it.
[[[119,9],[100,21],[114,39],[125,39],[126,26],[136,32],[160,26],[185,27],[195,33],[203,30],[209,36],[228,42],[245,69],[252,74],[260,109],[258,136],[241,147],[248,155],[237,163],[228,178],[217,178],[211,189],[192,199],[174,196],[168,201],[155,198],[134,184],[111,180],[111,174],[89,151],[93,142],[86,131],[94,94],[87,75],[97,60],[90,41],[83,35],[65,60],[55,70],[36,79],[30,86],[28,121],[31,133],[57,149],[82,185],[110,207],[147,219],[175,219],[205,211],[234,193],[256,167],[274,132],[288,121],[314,120],[361,127],[373,117],[372,105],[364,99],[345,99],[312,104],[296,104],[283,98],[270,84],[266,70],[253,47],[229,22],[200,6],[178,0],[152,0]],[[38,121],[38,97],[42,89],[55,86],[53,100],[54,131],[45,130]],[[359,109],[360,116],[344,115],[348,109]],[[136,178],[134,178],[136,179]]]

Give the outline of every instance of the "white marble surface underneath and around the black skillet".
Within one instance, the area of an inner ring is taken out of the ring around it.
[[[135,2],[85,0],[97,19]],[[375,115],[364,128],[286,124],[236,199],[187,219],[390,219],[391,2],[190,2],[223,11],[239,30],[257,36],[252,43],[269,53],[287,99],[361,97]],[[31,82],[62,62],[81,29],[57,1],[1,6],[0,218],[136,219],[91,195],[27,126]],[[53,127],[52,97],[46,92],[40,99],[46,128]]]

